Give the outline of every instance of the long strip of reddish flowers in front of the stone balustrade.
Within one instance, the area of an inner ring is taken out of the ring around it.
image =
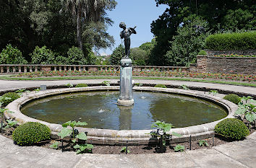
[[[20,77],[37,78],[43,76],[119,76],[119,71],[41,71],[19,74]],[[215,79],[232,81],[256,81],[255,75],[243,74],[210,74],[210,73],[183,73],[174,71],[133,71],[133,76],[159,76],[169,78]]]

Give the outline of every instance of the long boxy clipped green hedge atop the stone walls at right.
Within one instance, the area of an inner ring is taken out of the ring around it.
[[[256,31],[209,35],[205,46],[210,50],[249,50],[256,48]]]

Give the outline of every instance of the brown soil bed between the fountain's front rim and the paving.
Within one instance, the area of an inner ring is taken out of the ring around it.
[[[12,139],[12,131],[13,128],[7,128],[5,131],[2,131],[0,133],[1,136],[5,136],[7,138]],[[250,133],[255,132],[255,127],[249,129]],[[214,142],[213,142],[214,138]],[[216,135],[215,137],[203,139],[205,140],[209,146],[200,146],[199,142],[200,140],[196,141],[191,141],[191,150],[197,150],[197,149],[211,149],[213,146],[218,146],[224,143],[229,143],[232,142],[232,140],[228,138],[223,138],[222,136]],[[45,142],[40,142],[40,143],[35,143],[34,146],[40,146],[46,149],[52,149],[50,146],[51,144],[56,141],[54,139],[45,141]],[[90,141],[89,141],[90,142]],[[214,144],[213,144],[214,143]],[[75,151],[72,146],[72,143],[70,141],[64,141],[64,149],[63,151]],[[183,142],[183,143],[170,143],[168,146],[166,146],[166,153],[169,152],[175,152],[174,147],[176,145],[181,145],[185,147],[185,150],[190,150],[190,142]],[[88,153],[92,154],[126,154],[126,152],[121,152],[121,149],[124,148],[126,145],[124,144],[123,146],[111,146],[111,145],[94,145],[92,151],[88,151]],[[129,154],[157,154],[158,153],[158,147],[156,145],[133,145],[133,146],[128,146],[127,148],[129,150]],[[58,149],[52,149],[52,150],[62,150],[61,149],[61,143],[59,144]]]

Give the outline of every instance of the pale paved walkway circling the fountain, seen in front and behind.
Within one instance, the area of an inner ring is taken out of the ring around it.
[[[109,80],[117,82],[117,80]],[[0,81],[0,92],[5,89],[40,87],[77,83],[101,83],[104,80],[77,81]],[[138,83],[152,83],[148,80],[135,80]],[[253,87],[238,87],[223,84],[208,84],[187,81],[153,81],[154,84],[173,84],[188,87],[207,87],[234,92],[246,92],[256,95]],[[236,141],[215,146],[212,149],[199,149],[168,154],[141,155],[100,155],[61,152],[54,149],[43,149],[38,146],[16,146],[13,141],[0,136],[0,167],[256,167],[256,132],[244,141]]]

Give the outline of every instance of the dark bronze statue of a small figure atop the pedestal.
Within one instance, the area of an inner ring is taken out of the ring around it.
[[[125,25],[124,22],[121,22],[119,27],[121,27],[122,29],[124,29],[123,31],[120,32],[120,37],[121,39],[124,38],[124,47],[125,47],[125,57],[124,58],[128,58],[129,57],[129,52],[130,52],[130,45],[131,45],[131,40],[130,40],[130,35],[136,34],[137,32],[135,31],[135,28],[129,27],[127,28],[127,26]]]

